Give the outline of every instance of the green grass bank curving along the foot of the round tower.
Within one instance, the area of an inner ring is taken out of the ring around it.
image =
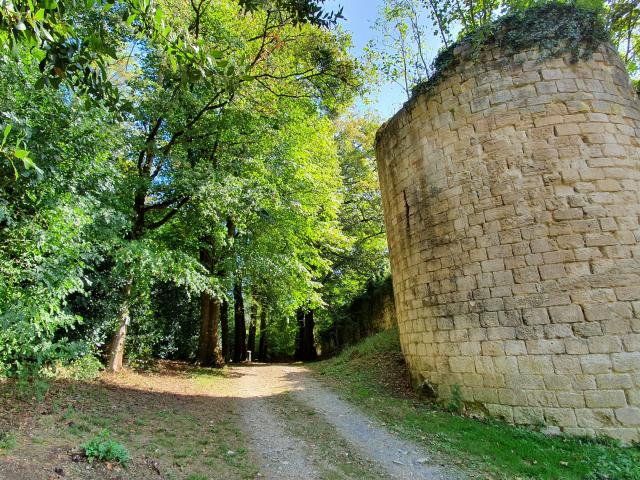
[[[444,452],[485,478],[640,479],[640,448],[613,440],[551,437],[523,427],[477,420],[421,401],[408,375],[395,330],[367,338],[312,366],[329,385],[400,435]]]

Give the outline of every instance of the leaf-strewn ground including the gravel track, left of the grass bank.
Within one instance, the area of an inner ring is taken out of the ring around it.
[[[129,451],[89,462],[101,432]],[[434,452],[357,412],[302,365],[223,370],[160,362],[91,382],[54,382],[42,401],[0,384],[0,478],[455,479]]]

